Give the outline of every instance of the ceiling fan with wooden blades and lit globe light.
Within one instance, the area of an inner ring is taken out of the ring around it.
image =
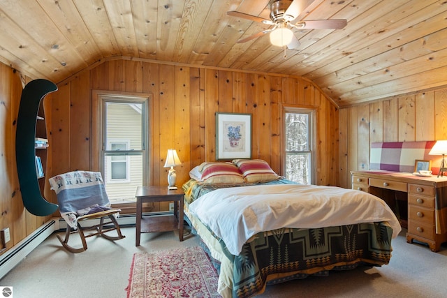
[[[279,47],[288,47],[289,49],[296,49],[300,45],[298,38],[290,28],[297,29],[343,29],[348,23],[344,19],[338,20],[296,20],[297,17],[307,8],[314,0],[271,0],[270,5],[270,20],[247,13],[240,13],[237,11],[227,11],[227,15],[233,17],[242,17],[247,20],[260,22],[263,24],[272,25],[273,27],[267,30],[258,32],[247,38],[237,40],[237,43],[245,43],[259,36],[270,33],[270,43]]]

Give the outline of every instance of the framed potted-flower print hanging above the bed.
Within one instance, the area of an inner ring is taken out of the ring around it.
[[[216,159],[251,158],[251,114],[216,113]]]

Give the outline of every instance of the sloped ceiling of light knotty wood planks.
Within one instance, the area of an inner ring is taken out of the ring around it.
[[[295,0],[301,1],[301,0]],[[270,28],[269,0],[0,0],[0,61],[63,82],[114,57],[237,68],[313,80],[340,107],[447,85],[447,1],[315,0],[300,20],[344,29],[293,29],[298,50]]]

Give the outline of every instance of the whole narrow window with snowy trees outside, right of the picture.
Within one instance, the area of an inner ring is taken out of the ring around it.
[[[312,184],[314,151],[313,111],[305,109],[286,109],[285,126],[285,169],[286,179],[300,184]]]

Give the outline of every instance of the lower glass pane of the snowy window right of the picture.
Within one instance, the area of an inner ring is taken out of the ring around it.
[[[300,184],[311,183],[310,153],[286,154],[286,179]]]

